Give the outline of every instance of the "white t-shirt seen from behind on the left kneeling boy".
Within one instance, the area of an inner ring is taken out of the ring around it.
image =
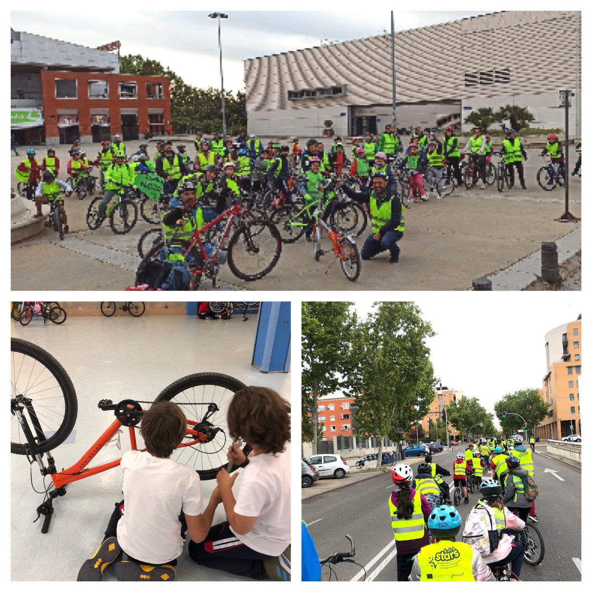
[[[181,510],[204,511],[200,476],[189,466],[149,452],[129,451],[121,458],[124,513],[117,540],[134,559],[162,564],[183,551]]]

